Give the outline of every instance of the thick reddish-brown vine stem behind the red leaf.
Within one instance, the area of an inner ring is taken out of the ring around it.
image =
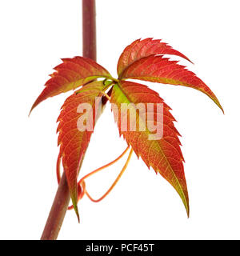
[[[82,0],[82,56],[96,61],[96,53],[95,0]],[[69,203],[70,191],[66,182],[66,174],[63,172],[41,240],[58,238]]]

